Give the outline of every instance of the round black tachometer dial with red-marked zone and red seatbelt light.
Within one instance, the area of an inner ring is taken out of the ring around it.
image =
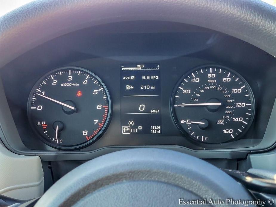
[[[76,149],[96,140],[110,118],[110,96],[103,82],[79,67],[63,67],[44,75],[28,100],[28,118],[44,142]]]

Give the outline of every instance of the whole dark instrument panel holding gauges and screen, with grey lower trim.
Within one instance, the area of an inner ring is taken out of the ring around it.
[[[275,67],[257,47],[201,27],[86,28],[1,70],[19,135],[4,142],[44,160],[139,146],[243,158],[275,144]]]

